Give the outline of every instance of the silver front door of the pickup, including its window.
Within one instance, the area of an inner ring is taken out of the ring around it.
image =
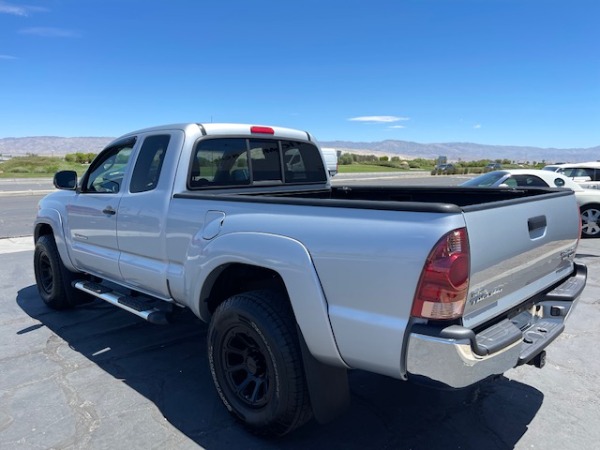
[[[136,138],[104,149],[80,182],[78,194],[66,208],[65,233],[71,241],[71,260],[81,270],[121,280],[117,242],[117,211],[130,172]]]

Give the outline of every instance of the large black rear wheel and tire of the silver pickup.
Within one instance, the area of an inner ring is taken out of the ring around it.
[[[282,436],[312,417],[296,323],[273,291],[234,295],[208,329],[208,360],[217,393],[250,431]]]

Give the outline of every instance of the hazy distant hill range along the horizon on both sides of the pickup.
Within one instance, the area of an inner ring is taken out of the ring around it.
[[[36,136],[0,139],[0,155],[64,156],[67,153],[98,153],[113,138]],[[468,142],[420,144],[418,142],[386,140],[380,142],[321,141],[323,147],[342,152],[377,155],[398,155],[402,158],[436,159],[446,156],[449,161],[480,159],[509,159],[517,162],[581,162],[600,159],[600,146],[592,148],[539,148],[503,145],[483,145]]]

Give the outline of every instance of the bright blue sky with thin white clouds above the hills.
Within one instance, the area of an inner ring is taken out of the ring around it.
[[[600,145],[598,0],[0,0],[0,138]]]

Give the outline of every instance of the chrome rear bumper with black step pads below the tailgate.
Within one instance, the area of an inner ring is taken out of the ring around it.
[[[415,324],[406,353],[409,379],[462,388],[528,363],[564,330],[587,279],[584,265],[501,322],[479,330]]]

